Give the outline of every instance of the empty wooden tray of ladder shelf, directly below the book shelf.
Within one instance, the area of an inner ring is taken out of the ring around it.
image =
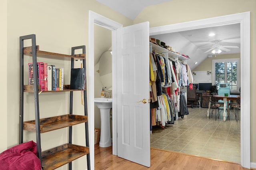
[[[40,119],[40,133],[70,127],[87,121],[87,116],[70,114]],[[24,130],[36,132],[36,121],[26,121],[23,123],[23,127]]]

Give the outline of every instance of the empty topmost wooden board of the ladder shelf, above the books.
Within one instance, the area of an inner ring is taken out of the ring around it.
[[[24,47],[24,55],[32,56],[32,47]],[[40,51],[39,45],[36,45],[36,56],[37,57],[45,57],[45,58],[55,58],[55,57],[69,57],[69,58],[77,58],[77,59],[86,59],[85,53],[75,54],[75,55],[66,55],[60,53],[52,53],[47,51]]]

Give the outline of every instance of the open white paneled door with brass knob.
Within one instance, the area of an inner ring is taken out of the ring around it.
[[[117,49],[118,156],[150,167],[149,22],[118,29]]]

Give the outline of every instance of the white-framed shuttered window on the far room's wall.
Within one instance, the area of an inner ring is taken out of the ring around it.
[[[213,80],[217,88],[220,83],[230,83],[230,92],[239,92],[239,61],[239,58],[212,60]]]

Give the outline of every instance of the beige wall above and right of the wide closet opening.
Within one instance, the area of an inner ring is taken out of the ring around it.
[[[221,4],[217,5],[216,4]],[[214,8],[212,8],[214,5]],[[149,6],[144,8],[142,12],[134,20],[134,24],[149,21],[150,27],[164,26],[168,24],[176,24],[181,22],[188,22],[193,20],[200,20],[205,18],[212,18],[217,16],[224,16],[228,14],[236,14],[240,12],[251,13],[251,42],[250,42],[250,92],[251,92],[251,162],[256,162],[256,116],[254,114],[254,103],[256,102],[256,90],[254,87],[256,79],[253,77],[256,72],[256,67],[252,67],[256,63],[256,0],[173,0],[162,4]]]

